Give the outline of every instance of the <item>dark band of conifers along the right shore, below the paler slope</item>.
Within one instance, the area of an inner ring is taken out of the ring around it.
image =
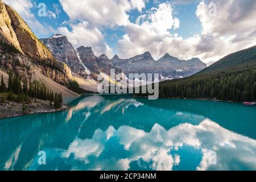
[[[255,101],[256,69],[192,76],[163,82],[160,97],[207,98],[223,101]]]

